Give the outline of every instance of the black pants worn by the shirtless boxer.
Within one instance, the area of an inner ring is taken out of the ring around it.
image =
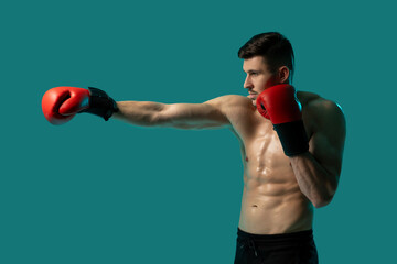
[[[313,231],[251,234],[238,229],[235,264],[318,264]]]

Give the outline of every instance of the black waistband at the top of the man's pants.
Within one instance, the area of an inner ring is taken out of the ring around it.
[[[279,233],[279,234],[253,234],[247,233],[240,229],[237,230],[237,237],[239,239],[247,239],[257,242],[291,242],[291,241],[308,241],[313,239],[313,230],[304,230],[292,233]]]

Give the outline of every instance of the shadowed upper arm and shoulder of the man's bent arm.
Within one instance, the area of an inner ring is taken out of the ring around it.
[[[339,178],[346,135],[346,122],[341,107],[326,101],[314,118],[315,125],[310,139],[310,152],[318,162]]]

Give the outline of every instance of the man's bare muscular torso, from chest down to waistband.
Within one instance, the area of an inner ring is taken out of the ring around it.
[[[303,123],[310,140],[313,124],[308,105],[321,98],[302,91],[297,97],[302,105]],[[313,206],[300,191],[272,123],[258,113],[249,99],[236,97],[235,100],[240,109],[229,120],[240,142],[244,164],[239,229],[256,234],[311,229]]]

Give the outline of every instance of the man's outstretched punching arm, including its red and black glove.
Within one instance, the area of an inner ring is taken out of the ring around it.
[[[63,124],[77,113],[87,112],[106,121],[116,118],[136,125],[207,129],[229,127],[226,112],[233,96],[222,96],[203,103],[160,103],[150,101],[116,102],[104,90],[62,86],[47,90],[42,99],[45,118]]]

